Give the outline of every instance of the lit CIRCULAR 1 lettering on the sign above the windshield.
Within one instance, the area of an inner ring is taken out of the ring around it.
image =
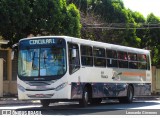
[[[30,40],[29,41],[30,45],[54,44],[54,43],[55,43],[54,39],[38,39],[38,40]]]

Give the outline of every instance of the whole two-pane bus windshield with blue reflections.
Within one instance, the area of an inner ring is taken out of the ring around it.
[[[23,77],[63,75],[66,72],[65,48],[33,48],[19,50],[18,74]]]

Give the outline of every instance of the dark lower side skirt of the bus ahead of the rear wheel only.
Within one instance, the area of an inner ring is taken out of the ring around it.
[[[72,83],[71,99],[81,99],[86,84],[92,86],[92,98],[118,97],[127,95],[127,84],[116,83]]]

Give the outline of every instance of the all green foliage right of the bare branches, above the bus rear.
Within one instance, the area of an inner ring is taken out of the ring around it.
[[[160,29],[146,28],[146,24],[158,26],[160,23],[160,19],[154,14],[148,15],[146,19],[141,13],[126,9],[122,0],[67,1],[68,3],[74,3],[86,16],[88,14],[98,16],[101,19],[100,24],[104,24],[102,27],[115,27],[115,29],[82,28],[82,38],[150,49],[153,57],[152,64],[160,66]],[[82,5],[82,2],[85,2],[85,4]],[[83,25],[86,25],[86,23]]]

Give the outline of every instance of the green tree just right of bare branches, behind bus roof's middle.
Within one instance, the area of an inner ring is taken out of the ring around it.
[[[100,38],[98,38],[98,40],[101,39],[101,41],[108,43],[127,46],[131,45],[136,47],[137,43],[139,43],[136,37],[136,31],[135,29],[129,29],[129,24],[134,24],[135,22],[130,11],[125,9],[123,2],[121,0],[93,1],[92,9],[94,10],[94,13],[96,15],[99,15],[103,19],[103,24],[106,24],[106,26],[111,27],[110,29],[103,29],[101,34],[94,33],[101,35]]]

